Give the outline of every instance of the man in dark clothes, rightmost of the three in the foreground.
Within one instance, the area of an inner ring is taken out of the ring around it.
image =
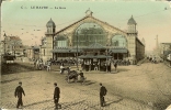
[[[104,100],[104,96],[106,95],[107,90],[106,88],[100,82],[100,102],[101,102],[101,107],[105,106],[105,100]]]

